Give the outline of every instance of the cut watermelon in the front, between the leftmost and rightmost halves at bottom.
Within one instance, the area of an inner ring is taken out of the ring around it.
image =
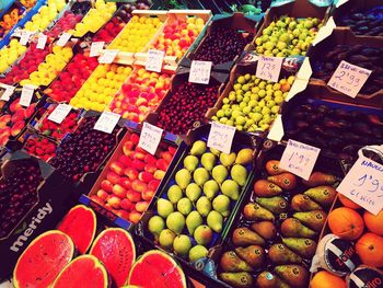
[[[51,288],[105,288],[108,285],[103,264],[95,256],[81,255],[60,272]]]

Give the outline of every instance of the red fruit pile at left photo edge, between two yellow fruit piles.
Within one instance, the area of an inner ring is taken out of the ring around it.
[[[49,48],[37,49],[36,43],[31,44],[23,59],[5,76],[0,82],[5,84],[18,83],[21,80],[28,79],[30,74],[37,70],[39,64],[45,60],[45,56],[50,53]]]

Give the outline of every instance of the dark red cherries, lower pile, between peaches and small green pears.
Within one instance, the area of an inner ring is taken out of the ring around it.
[[[202,122],[205,113],[218,100],[219,85],[183,83],[178,85],[164,103],[156,126],[173,134],[186,134],[195,122]]]

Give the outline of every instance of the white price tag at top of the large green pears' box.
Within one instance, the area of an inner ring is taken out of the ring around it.
[[[235,127],[212,122],[208,137],[208,147],[214,148],[223,153],[230,154],[234,135]]]

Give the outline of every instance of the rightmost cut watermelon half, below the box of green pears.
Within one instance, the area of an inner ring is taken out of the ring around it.
[[[186,288],[183,269],[166,253],[151,250],[137,260],[132,266],[129,285],[144,288]]]

